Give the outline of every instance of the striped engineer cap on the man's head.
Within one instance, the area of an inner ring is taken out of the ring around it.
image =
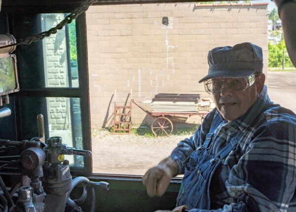
[[[243,78],[262,73],[262,48],[250,42],[213,48],[208,54],[209,72],[198,83],[209,79]]]

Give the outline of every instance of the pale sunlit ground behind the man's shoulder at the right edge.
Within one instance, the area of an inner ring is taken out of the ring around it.
[[[268,72],[266,85],[273,102],[296,113],[296,72]]]

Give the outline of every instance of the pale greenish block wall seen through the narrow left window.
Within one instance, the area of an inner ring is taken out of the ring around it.
[[[42,31],[55,27],[64,14],[43,14]],[[46,87],[68,87],[67,47],[65,28],[43,40]],[[68,129],[69,98],[47,98],[49,124],[52,129]]]

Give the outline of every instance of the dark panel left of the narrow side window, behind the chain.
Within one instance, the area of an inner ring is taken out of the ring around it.
[[[13,35],[17,39],[41,32],[41,15],[12,15]],[[37,114],[44,116],[44,126],[48,126],[46,99],[28,98],[23,94],[26,89],[45,86],[42,41],[31,45],[19,45],[16,49],[20,91],[16,94],[16,122],[18,139],[31,139],[38,136]],[[48,137],[48,128],[45,127]]]

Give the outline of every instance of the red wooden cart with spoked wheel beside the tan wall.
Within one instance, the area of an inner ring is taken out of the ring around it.
[[[158,95],[158,96],[157,96]],[[159,95],[164,94],[157,94],[155,97],[159,97]],[[170,95],[180,95],[180,94],[170,94]],[[157,100],[159,100],[158,98]],[[155,98],[152,99],[155,100]],[[166,99],[167,100],[167,99]],[[180,99],[179,99],[180,101]],[[188,101],[187,99],[183,99],[183,101]],[[196,112],[150,112],[141,105],[139,105],[137,102],[135,102],[134,99],[131,99],[131,102],[133,102],[135,105],[137,105],[140,109],[142,109],[144,112],[146,112],[148,115],[152,116],[154,118],[151,129],[154,135],[156,136],[168,136],[173,132],[173,123],[170,120],[170,117],[173,116],[193,116],[198,115],[203,120],[204,117],[209,113],[209,109],[207,110],[196,110]]]

